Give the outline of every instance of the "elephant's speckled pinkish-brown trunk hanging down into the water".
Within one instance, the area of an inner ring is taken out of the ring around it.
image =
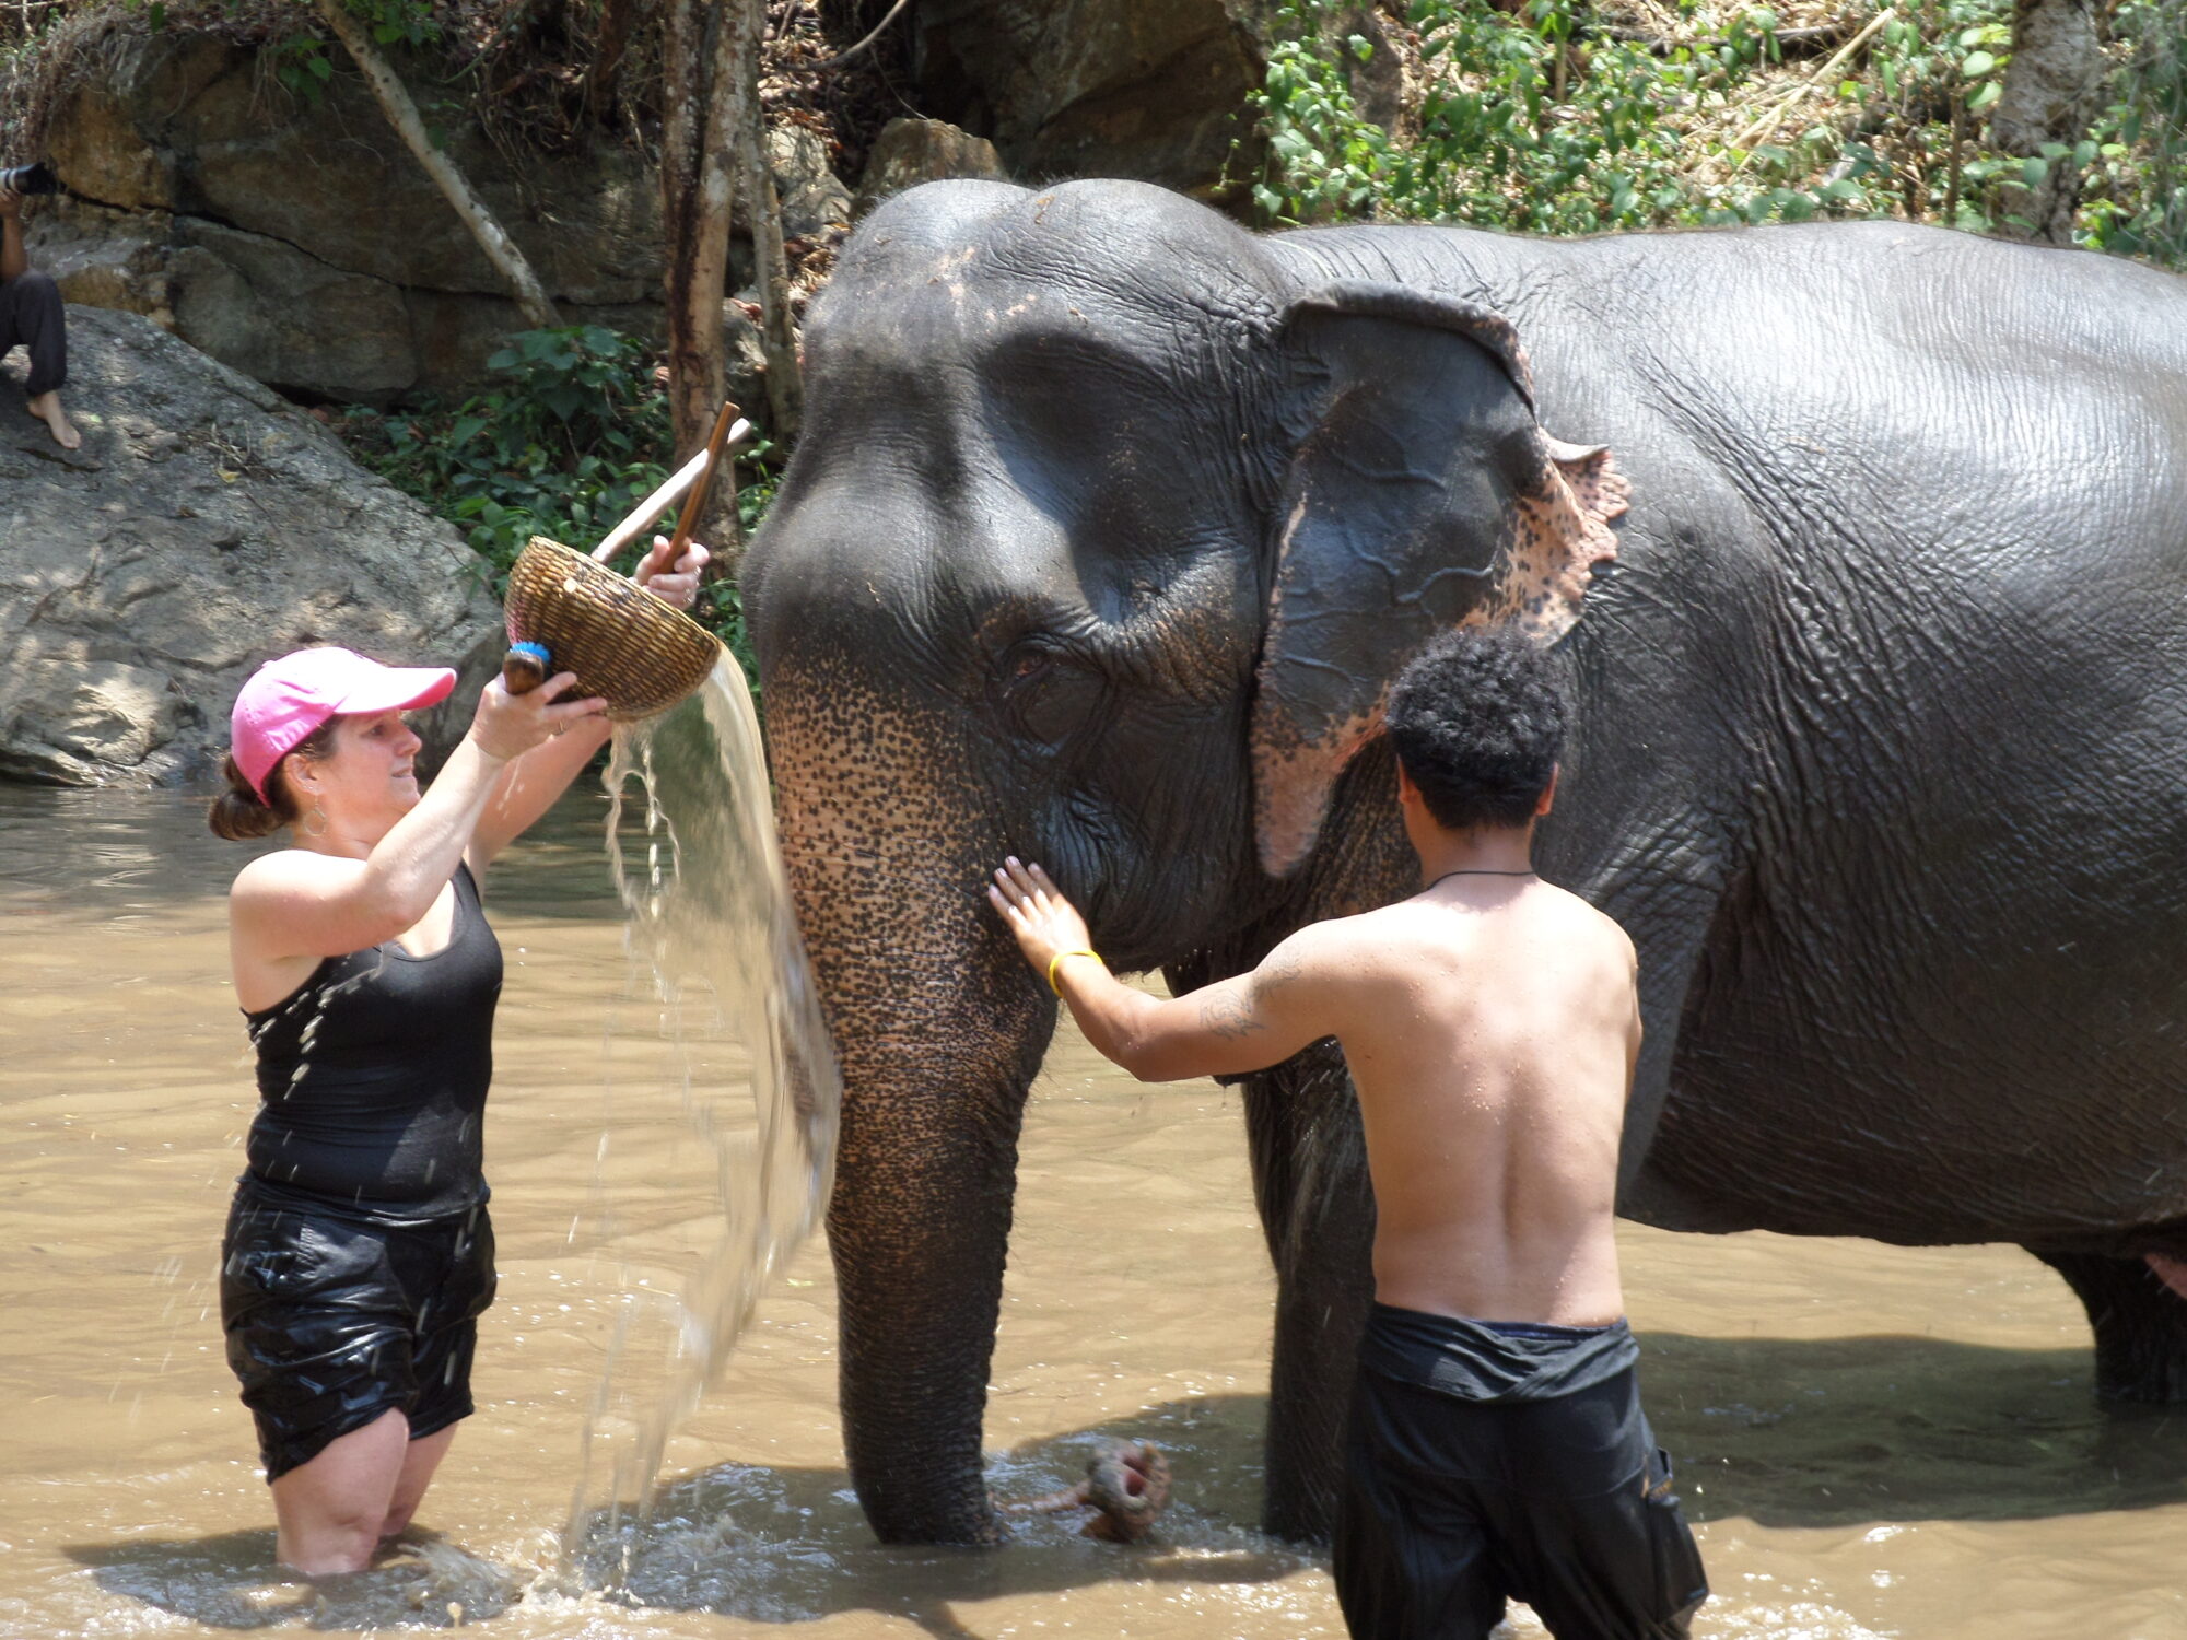
[[[995,1542],[980,1432],[1019,1115],[1054,1010],[982,899],[993,862],[973,855],[995,827],[967,813],[978,787],[947,733],[787,680],[768,715],[844,1080],[827,1222],[851,1480],[884,1542]]]

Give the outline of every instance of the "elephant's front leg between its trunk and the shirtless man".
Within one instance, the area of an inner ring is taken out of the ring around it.
[[[1373,1299],[1367,1144],[1330,1043],[1253,1078],[1244,1109],[1277,1281],[1262,1528],[1328,1542],[1352,1371]]]

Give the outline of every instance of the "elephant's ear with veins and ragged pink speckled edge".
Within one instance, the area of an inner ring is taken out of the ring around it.
[[[1382,726],[1397,667],[1459,623],[1551,643],[1616,555],[1625,479],[1551,440],[1500,313],[1389,284],[1332,284],[1286,313],[1275,575],[1253,698],[1260,864],[1297,870],[1330,789]]]

